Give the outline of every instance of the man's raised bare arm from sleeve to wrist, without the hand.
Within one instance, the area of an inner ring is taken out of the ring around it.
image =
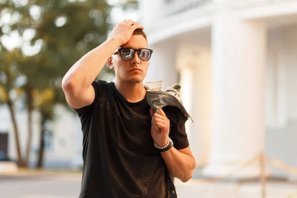
[[[91,84],[118,46],[116,38],[104,42],[85,54],[65,74],[62,89],[70,106],[79,109],[94,101],[95,91]]]

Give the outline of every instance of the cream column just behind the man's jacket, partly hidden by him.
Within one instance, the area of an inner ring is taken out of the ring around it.
[[[208,163],[210,152],[210,44],[181,41],[177,47],[177,54],[183,103],[194,120],[194,123],[191,120],[186,122],[186,131],[197,167],[200,168]]]

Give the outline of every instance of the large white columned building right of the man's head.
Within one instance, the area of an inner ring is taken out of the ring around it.
[[[146,80],[182,85],[201,172],[224,175],[262,150],[297,167],[297,0],[140,0],[140,9],[154,50]],[[238,176],[258,173],[254,163]]]

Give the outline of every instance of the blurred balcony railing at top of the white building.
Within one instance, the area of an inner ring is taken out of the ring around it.
[[[164,15],[172,15],[203,6],[211,0],[164,0]]]

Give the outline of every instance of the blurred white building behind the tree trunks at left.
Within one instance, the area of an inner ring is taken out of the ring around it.
[[[16,109],[19,109],[16,107]],[[8,157],[16,160],[17,152],[15,146],[14,130],[10,118],[10,112],[6,105],[0,106],[0,133],[8,132]],[[16,121],[19,130],[19,142],[23,158],[25,157],[27,145],[27,113],[18,110]],[[77,114],[57,105],[55,117],[48,123],[50,130],[47,131],[44,149],[45,168],[80,168],[82,167],[82,139],[81,124]],[[33,113],[33,136],[30,149],[29,166],[35,167],[38,160],[40,141],[40,116],[38,112]],[[1,168],[0,168],[1,172]]]

